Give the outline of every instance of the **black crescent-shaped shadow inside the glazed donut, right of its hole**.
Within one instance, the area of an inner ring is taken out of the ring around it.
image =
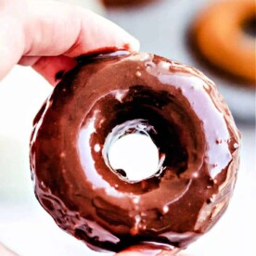
[[[180,142],[180,136],[174,123],[164,118],[154,107],[143,105],[142,102],[135,104],[134,101],[123,104],[123,108],[119,109],[116,115],[115,123],[118,124],[111,132],[119,125],[138,120],[143,121],[147,135],[159,151],[159,162],[161,163],[159,172],[155,173],[155,176],[160,176],[162,169],[166,169],[166,167],[173,175],[183,173],[187,164],[186,148]]]

